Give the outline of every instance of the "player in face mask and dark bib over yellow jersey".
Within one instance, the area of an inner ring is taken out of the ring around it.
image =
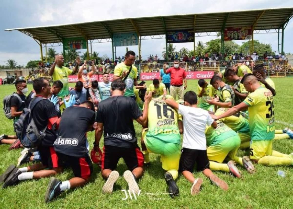
[[[218,107],[231,108],[235,104],[235,93],[231,89],[230,85],[224,83],[222,78],[219,76],[213,76],[210,84],[214,87],[214,89],[218,90],[219,97],[207,100],[207,103],[210,105],[215,105]]]

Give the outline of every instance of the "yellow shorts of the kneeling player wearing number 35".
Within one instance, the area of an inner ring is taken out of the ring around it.
[[[253,140],[250,142],[250,159],[259,160],[260,158],[272,155],[273,140]]]

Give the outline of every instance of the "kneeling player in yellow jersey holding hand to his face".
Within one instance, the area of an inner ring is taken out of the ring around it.
[[[211,84],[207,83],[204,79],[198,80],[197,96],[201,98],[198,107],[213,112],[214,105],[210,105],[207,100],[215,97],[215,95],[217,95],[217,91]]]

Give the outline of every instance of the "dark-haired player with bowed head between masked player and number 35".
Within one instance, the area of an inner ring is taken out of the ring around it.
[[[239,76],[236,75],[235,71],[233,70],[226,70],[224,77],[230,83],[233,83],[232,90],[235,93],[235,105],[240,104],[243,100],[247,97],[248,92],[246,91],[244,85],[240,82],[241,79]]]

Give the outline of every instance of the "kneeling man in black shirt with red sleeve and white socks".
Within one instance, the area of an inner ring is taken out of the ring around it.
[[[33,117],[38,131],[44,130],[47,126],[45,137],[38,146],[42,163],[20,169],[14,166],[8,167],[4,172],[5,177],[2,175],[3,179],[6,179],[3,188],[17,184],[21,180],[40,179],[56,175],[62,171],[62,167],[58,166],[58,157],[53,148],[56,133],[52,130],[52,126],[57,122],[58,117],[54,104],[47,99],[51,89],[50,83],[44,78],[37,78],[33,81],[33,88],[36,92],[36,97],[42,97],[43,99],[32,109],[31,117]],[[31,102],[34,102],[34,100]]]

